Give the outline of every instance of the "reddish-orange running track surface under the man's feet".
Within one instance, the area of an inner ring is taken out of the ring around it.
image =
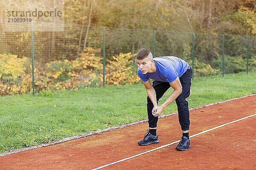
[[[102,134],[0,157],[0,170],[256,169],[256,95],[190,111],[191,148],[180,140],[177,114],[161,118],[154,145],[138,146],[148,128],[140,123]],[[246,119],[241,119],[245,118]],[[239,120],[241,119],[241,120]],[[237,122],[233,122],[239,120]],[[233,122],[233,123],[230,123]],[[230,123],[230,124],[227,124]],[[172,144],[175,143],[175,144]],[[166,144],[169,146],[163,147]],[[154,150],[155,148],[158,148]],[[162,148],[161,148],[162,147]],[[138,154],[153,150],[137,156]],[[131,159],[129,157],[136,156]],[[127,159],[127,160],[125,160]],[[124,161],[122,161],[124,160]],[[109,165],[110,163],[118,163]]]

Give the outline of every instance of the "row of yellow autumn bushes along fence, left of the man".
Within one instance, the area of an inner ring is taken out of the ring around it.
[[[56,60],[35,68],[35,90],[56,91],[85,87],[99,87],[103,84],[103,57],[100,49],[86,48],[78,58]],[[140,79],[134,69],[135,55],[119,54],[106,61],[105,83],[125,85]],[[26,57],[17,58],[12,54],[0,54],[0,95],[32,92],[32,65]],[[28,65],[28,66],[27,66]],[[30,70],[30,71],[27,71]]]

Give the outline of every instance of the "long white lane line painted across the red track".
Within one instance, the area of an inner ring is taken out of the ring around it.
[[[241,118],[241,119],[237,119],[237,120],[235,120],[235,121],[233,121],[233,122],[228,122],[228,123],[225,123],[225,124],[220,125],[220,126],[217,126],[217,127],[213,127],[212,129],[204,130],[204,131],[202,131],[202,132],[200,132],[200,133],[196,133],[195,135],[189,136],[189,138],[192,138],[192,137],[201,135],[201,134],[203,134],[203,133],[207,133],[207,132],[209,132],[209,131],[211,131],[211,130],[218,129],[218,128],[220,128],[220,127],[223,127],[223,126],[226,126],[226,125],[235,123],[235,122],[239,122],[240,120],[244,120],[244,119],[247,119],[247,118],[252,117],[252,116],[256,116],[256,114],[253,114],[253,115],[250,115],[250,116],[246,116],[246,117],[243,117],[243,118]],[[102,166],[100,166],[100,167],[96,167],[96,168],[94,168],[94,169],[92,169],[92,170],[99,170],[99,169],[102,169],[102,168],[104,168],[104,167],[108,167],[108,166],[110,166],[110,165],[117,164],[117,163],[119,163],[119,162],[126,161],[126,160],[128,160],[128,159],[132,159],[132,158],[135,158],[135,157],[137,157],[137,156],[144,155],[144,154],[149,153],[149,152],[153,152],[154,150],[158,150],[158,149],[161,149],[161,148],[163,148],[163,147],[170,146],[170,145],[175,144],[175,143],[178,143],[178,142],[180,142],[180,140],[175,141],[175,142],[172,142],[172,143],[169,143],[169,144],[165,144],[165,145],[163,145],[163,146],[157,147],[157,148],[152,149],[152,150],[148,150],[148,151],[143,152],[143,153],[139,153],[139,154],[137,154],[137,155],[134,155],[134,156],[131,156],[131,157],[128,157],[128,158],[125,158],[125,159],[121,159],[121,160],[119,160],[119,161],[115,161],[115,162],[112,162],[112,163],[109,163],[109,164],[102,165]]]

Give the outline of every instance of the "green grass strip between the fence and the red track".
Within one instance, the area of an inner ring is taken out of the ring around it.
[[[195,78],[189,108],[255,93],[253,72]],[[0,103],[0,153],[147,118],[142,84],[2,96]],[[163,113],[175,111],[172,103]]]

